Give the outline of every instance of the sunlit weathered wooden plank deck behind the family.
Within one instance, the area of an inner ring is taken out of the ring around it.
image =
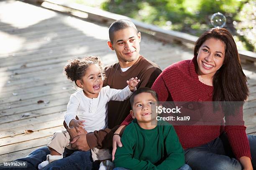
[[[67,60],[97,55],[105,65],[117,61],[107,46],[108,26],[21,1],[0,1],[0,163],[28,155],[63,129],[74,92],[62,73]],[[141,54],[161,69],[193,56],[191,48],[144,33]],[[243,70],[251,92],[244,120],[247,133],[255,135],[256,67],[243,65]]]

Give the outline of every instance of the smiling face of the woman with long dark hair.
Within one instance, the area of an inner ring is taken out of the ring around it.
[[[223,65],[224,58],[225,43],[215,38],[207,39],[198,50],[198,73],[213,76]]]

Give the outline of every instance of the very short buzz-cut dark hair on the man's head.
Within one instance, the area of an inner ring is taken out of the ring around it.
[[[113,43],[114,39],[114,32],[119,31],[119,30],[124,30],[125,28],[134,28],[136,33],[138,34],[138,30],[136,26],[131,22],[130,20],[116,20],[114,23],[112,23],[108,29],[108,35],[109,35],[109,40],[111,43]]]

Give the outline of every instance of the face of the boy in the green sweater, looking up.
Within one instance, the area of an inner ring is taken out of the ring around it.
[[[157,101],[148,92],[142,92],[134,97],[132,110],[130,111],[133,119],[136,118],[138,122],[151,122],[156,119]]]

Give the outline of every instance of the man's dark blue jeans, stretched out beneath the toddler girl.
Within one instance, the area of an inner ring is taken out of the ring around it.
[[[23,160],[28,162],[27,170],[36,170],[38,164],[46,160],[46,155],[50,154],[48,147],[42,147],[34,150],[31,154],[25,158],[17,160]],[[56,160],[47,165],[43,170],[98,170],[99,163],[93,162],[91,151],[73,151],[65,148],[63,153],[63,159]],[[5,168],[4,170],[10,170],[14,168]],[[25,168],[15,168],[15,170],[25,170]]]

